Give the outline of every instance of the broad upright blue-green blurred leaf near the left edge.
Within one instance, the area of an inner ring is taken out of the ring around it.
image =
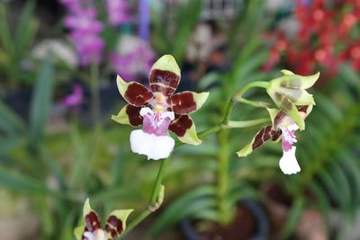
[[[50,61],[40,67],[40,73],[31,97],[30,132],[35,143],[39,143],[49,118],[54,85],[54,68]]]

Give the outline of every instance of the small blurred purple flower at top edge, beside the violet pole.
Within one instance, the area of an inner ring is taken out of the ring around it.
[[[106,10],[112,26],[130,22],[129,5],[125,0],[106,0]]]

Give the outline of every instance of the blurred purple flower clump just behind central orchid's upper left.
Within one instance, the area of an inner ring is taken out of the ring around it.
[[[148,76],[155,58],[154,51],[150,49],[145,41],[134,40],[134,38],[123,38],[122,40],[123,46],[129,46],[127,42],[132,41],[132,44],[130,44],[132,48],[126,49],[126,52],[111,54],[112,69],[125,79],[129,79],[129,81],[139,76]]]

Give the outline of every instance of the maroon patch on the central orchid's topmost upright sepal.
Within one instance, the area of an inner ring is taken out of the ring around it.
[[[153,69],[148,81],[153,93],[163,93],[169,97],[175,93],[180,83],[180,76],[171,71]]]

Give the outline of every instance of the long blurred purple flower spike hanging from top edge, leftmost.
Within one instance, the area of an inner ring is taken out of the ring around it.
[[[75,44],[81,66],[100,63],[103,40],[99,34],[103,23],[96,19],[96,9],[89,0],[60,0],[67,7],[65,26],[70,30],[69,39]]]

